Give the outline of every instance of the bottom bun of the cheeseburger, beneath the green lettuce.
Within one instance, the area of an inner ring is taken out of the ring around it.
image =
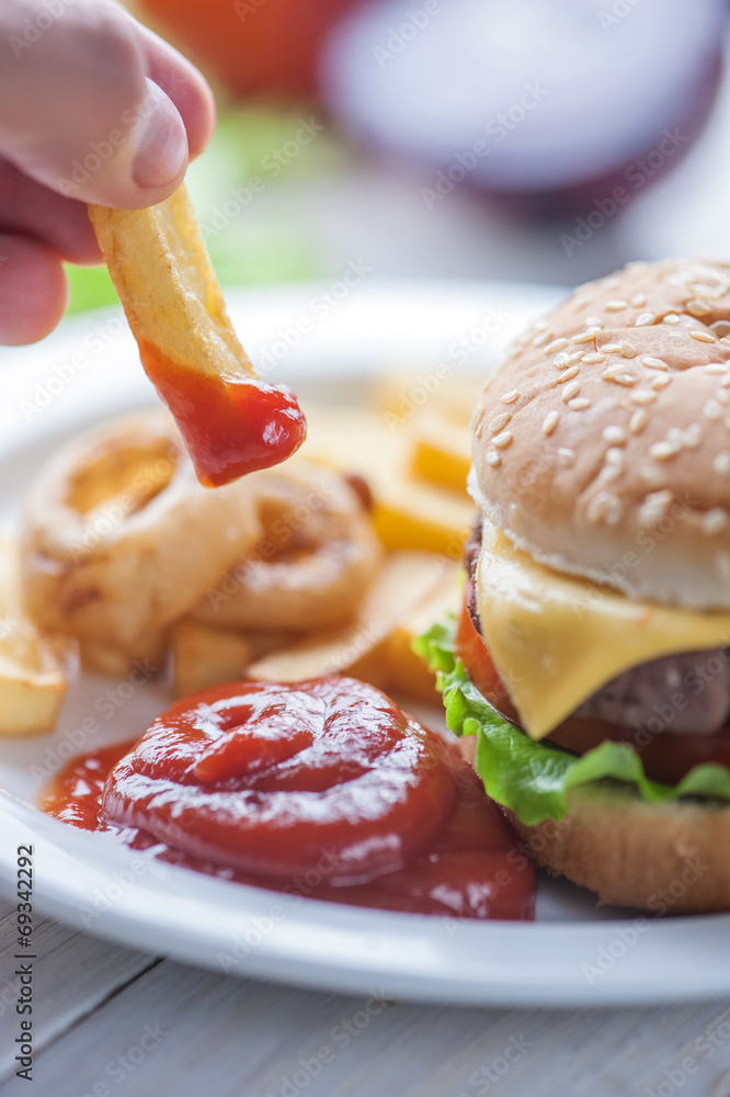
[[[474,745],[461,744],[474,761]],[[541,868],[605,904],[659,915],[730,911],[730,805],[650,804],[609,781],[574,789],[568,802],[562,819],[536,826],[506,812]]]

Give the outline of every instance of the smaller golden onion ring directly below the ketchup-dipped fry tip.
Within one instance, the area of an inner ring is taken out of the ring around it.
[[[252,474],[264,534],[193,611],[219,629],[311,631],[354,617],[383,546],[344,476],[313,462]]]

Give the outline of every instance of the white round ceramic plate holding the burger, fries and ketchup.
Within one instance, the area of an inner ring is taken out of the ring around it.
[[[350,402],[388,365],[456,367],[466,350],[465,367],[483,371],[558,296],[500,283],[364,282],[241,292],[230,305],[254,361],[277,360],[269,376],[290,381],[305,400]],[[309,327],[289,349],[301,320]],[[41,347],[0,352],[0,522],[8,528],[64,438],[152,398],[115,312],[68,323]],[[647,923],[598,912],[588,893],[547,880],[534,925],[360,911],[166,867],[34,806],[41,783],[67,757],[141,733],[169,700],[155,682],[132,688],[84,675],[53,735],[0,740],[0,891],[14,894],[16,849],[32,845],[35,904],[61,921],[233,974],[350,993],[552,1006],[730,993],[728,916]]]

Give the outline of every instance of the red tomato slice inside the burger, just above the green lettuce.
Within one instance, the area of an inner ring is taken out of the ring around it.
[[[520,726],[520,714],[497,672],[484,637],[475,627],[469,611],[470,597],[469,587],[456,633],[456,654],[484,699],[505,720]],[[670,731],[652,733],[648,728],[609,724],[594,716],[568,716],[550,732],[548,739],[580,755],[601,746],[604,739],[628,743],[641,758],[647,777],[664,784],[676,784],[695,766],[717,762],[730,769],[730,726],[727,725],[712,735],[692,735]]]

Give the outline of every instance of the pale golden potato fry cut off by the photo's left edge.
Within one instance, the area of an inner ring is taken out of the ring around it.
[[[18,543],[0,538],[0,735],[43,735],[55,726],[67,680],[58,648],[23,612],[19,563]]]

